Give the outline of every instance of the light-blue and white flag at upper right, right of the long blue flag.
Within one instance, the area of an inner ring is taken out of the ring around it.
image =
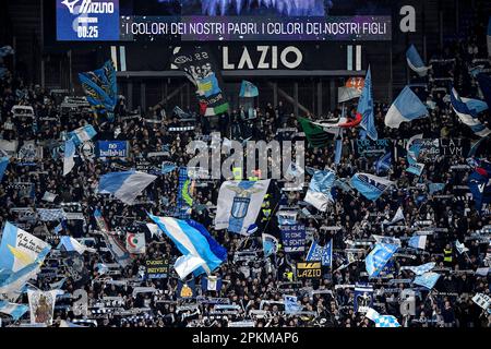
[[[385,125],[391,129],[398,129],[403,122],[409,122],[427,116],[427,107],[412,89],[406,86],[388,109],[385,116]]]

